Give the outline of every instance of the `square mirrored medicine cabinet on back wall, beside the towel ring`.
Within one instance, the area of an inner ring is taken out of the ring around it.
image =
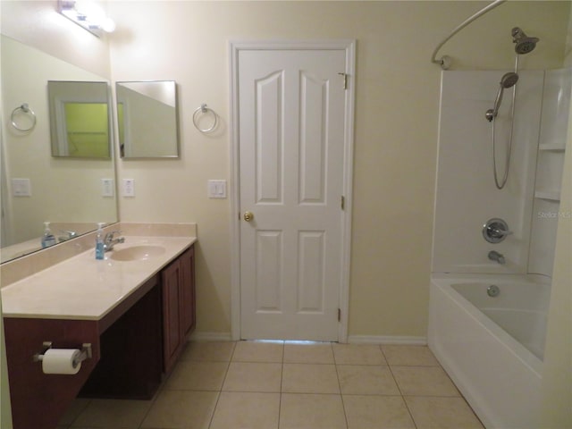
[[[115,93],[122,157],[179,156],[173,80],[117,82]]]

